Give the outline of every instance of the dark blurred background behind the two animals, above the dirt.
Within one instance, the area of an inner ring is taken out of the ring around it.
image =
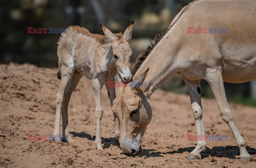
[[[1,0],[0,63],[31,63],[57,67],[57,44],[60,34],[28,34],[27,27],[66,28],[77,24],[90,32],[103,34],[102,23],[113,32],[124,32],[134,20],[129,42],[134,62],[157,33],[166,31],[174,16],[189,0]],[[228,100],[256,106],[256,81],[225,83]],[[182,78],[175,74],[161,89],[187,94]],[[202,96],[213,98],[202,81]]]

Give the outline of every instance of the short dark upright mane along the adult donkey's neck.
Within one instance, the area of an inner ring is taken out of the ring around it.
[[[151,42],[150,45],[147,46],[146,51],[140,53],[140,55],[137,57],[136,61],[135,61],[135,71],[137,71],[141,64],[146,60],[146,58],[148,57],[148,55],[151,53],[151,51],[153,51],[153,49],[156,47],[156,45],[159,43],[159,41],[161,41],[163,39],[163,37],[166,35],[166,33],[173,27],[173,25],[179,20],[180,16],[187,11],[188,7],[193,4],[195,1],[190,2],[185,8],[184,10],[181,12],[181,14],[178,16],[178,18],[173,22],[173,24],[169,27],[169,29],[167,31],[163,31],[161,33],[158,33],[158,35],[156,35],[156,37],[154,38],[154,43]],[[175,19],[175,18],[174,18]]]

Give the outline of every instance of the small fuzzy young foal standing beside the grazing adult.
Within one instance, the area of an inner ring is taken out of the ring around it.
[[[61,79],[56,98],[56,119],[54,136],[60,135],[60,112],[62,112],[62,140],[72,142],[68,129],[68,102],[70,96],[83,75],[92,80],[96,104],[96,139],[95,146],[103,150],[100,138],[100,121],[103,114],[101,107],[101,88],[108,80],[115,80],[118,72],[123,81],[130,81],[130,57],[132,55],[128,41],[132,37],[133,21],[122,33],[112,33],[101,26],[105,36],[92,34],[79,26],[68,27],[68,33],[62,33],[58,41],[59,70]],[[106,85],[111,106],[115,99],[115,88]],[[115,117],[115,116],[114,116]],[[65,139],[63,139],[65,138]]]

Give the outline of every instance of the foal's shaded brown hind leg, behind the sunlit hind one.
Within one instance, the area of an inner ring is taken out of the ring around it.
[[[68,128],[68,103],[73,93],[74,89],[76,88],[78,82],[83,77],[83,75],[75,70],[73,77],[71,78],[69,85],[67,87],[65,93],[65,99],[62,105],[62,141],[67,140],[68,142],[73,142],[73,138],[69,136],[69,128]]]

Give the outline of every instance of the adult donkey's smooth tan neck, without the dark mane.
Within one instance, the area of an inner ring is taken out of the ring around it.
[[[148,54],[145,61],[143,61],[134,75],[135,79],[137,75],[144,73],[149,68],[144,80],[144,82],[148,82],[148,86],[144,87],[145,85],[142,85],[141,87],[141,90],[145,93],[147,98],[149,98],[166,79],[183,67],[182,62],[177,59],[181,39],[179,37],[180,31],[178,26],[167,31]]]

